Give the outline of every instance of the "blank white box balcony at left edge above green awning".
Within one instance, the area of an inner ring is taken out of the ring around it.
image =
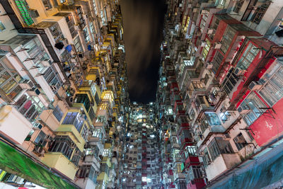
[[[0,132],[8,139],[22,144],[30,130],[33,130],[33,125],[16,108],[5,105],[0,109]]]

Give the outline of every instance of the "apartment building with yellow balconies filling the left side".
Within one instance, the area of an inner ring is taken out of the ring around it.
[[[0,4],[1,145],[40,171],[2,161],[3,181],[116,188],[129,101],[118,1]]]

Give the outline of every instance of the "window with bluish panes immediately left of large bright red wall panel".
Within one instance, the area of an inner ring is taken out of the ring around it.
[[[243,114],[243,120],[246,121],[247,125],[251,125],[255,122],[260,115],[262,115],[262,108],[266,108],[266,105],[262,103],[260,98],[251,92],[247,98],[241,103],[240,107],[242,110],[248,110],[247,113]]]

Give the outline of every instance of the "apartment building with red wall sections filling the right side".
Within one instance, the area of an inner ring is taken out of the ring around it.
[[[163,186],[281,186],[256,168],[271,171],[281,157],[282,1],[166,3],[156,94]]]

